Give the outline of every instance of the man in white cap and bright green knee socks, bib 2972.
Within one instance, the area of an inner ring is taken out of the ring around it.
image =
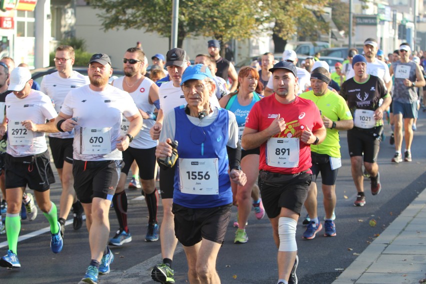
[[[57,221],[56,205],[50,201],[50,184],[54,176],[50,167],[44,132],[56,132],[56,111],[50,98],[31,89],[28,68],[17,67],[10,73],[8,89],[13,90],[5,99],[8,144],[5,156],[7,192],[6,233],[9,250],[0,258],[0,266],[20,267],[17,242],[20,231],[19,211],[22,193],[28,185],[34,191],[38,207],[50,224],[50,247],[54,253],[62,250],[62,237]],[[48,122],[46,122],[48,120]],[[1,127],[0,135],[4,135]]]

